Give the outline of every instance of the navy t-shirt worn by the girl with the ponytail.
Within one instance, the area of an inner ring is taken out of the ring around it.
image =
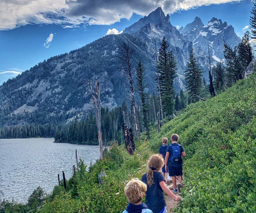
[[[159,185],[161,181],[165,182],[165,179],[161,172],[154,172],[153,177],[152,186],[147,184],[147,173],[142,176],[141,181],[147,184],[145,204],[153,213],[158,213],[166,206],[164,192]]]

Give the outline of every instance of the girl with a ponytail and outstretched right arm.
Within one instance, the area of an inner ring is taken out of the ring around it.
[[[142,181],[147,184],[146,200],[147,207],[153,213],[166,213],[164,192],[174,201],[180,201],[180,196],[175,196],[165,185],[165,179],[161,172],[158,172],[164,165],[164,159],[160,154],[152,155],[148,161],[148,172],[142,176]]]

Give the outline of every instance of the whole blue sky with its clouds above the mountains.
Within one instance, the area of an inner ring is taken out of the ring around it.
[[[177,28],[191,23],[196,16],[205,25],[216,17],[232,25],[239,37],[250,29],[253,6],[252,1],[230,0],[178,0],[175,5],[174,1],[170,5],[170,1],[165,0],[158,4],[153,0],[129,3],[111,0],[101,7],[97,4],[100,0],[31,0],[31,5],[24,5],[22,9],[18,0],[13,0],[12,5],[8,0],[2,1],[0,85],[44,59],[78,49],[106,35],[108,30],[109,33],[118,33],[158,6],[165,14],[169,13],[171,24]],[[46,2],[50,2],[50,6],[45,6]],[[215,4],[220,2],[224,3]]]

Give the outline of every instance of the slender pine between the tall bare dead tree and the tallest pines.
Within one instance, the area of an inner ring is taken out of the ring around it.
[[[144,73],[145,69],[143,67],[143,64],[141,62],[141,59],[139,60],[138,66],[136,68],[136,80],[137,80],[137,85],[135,90],[138,92],[140,98],[141,98],[141,105],[142,105],[142,120],[143,120],[143,125],[147,130],[147,138],[150,139],[150,135],[149,135],[149,129],[148,129],[148,105],[147,105],[147,99],[148,99],[148,95],[147,93],[145,93],[145,88],[146,88],[146,84],[145,84],[145,73]]]

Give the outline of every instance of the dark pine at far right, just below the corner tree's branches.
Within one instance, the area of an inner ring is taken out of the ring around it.
[[[243,70],[246,70],[249,63],[252,61],[252,47],[249,43],[249,31],[244,33],[242,42],[238,44],[238,60],[242,65]]]

